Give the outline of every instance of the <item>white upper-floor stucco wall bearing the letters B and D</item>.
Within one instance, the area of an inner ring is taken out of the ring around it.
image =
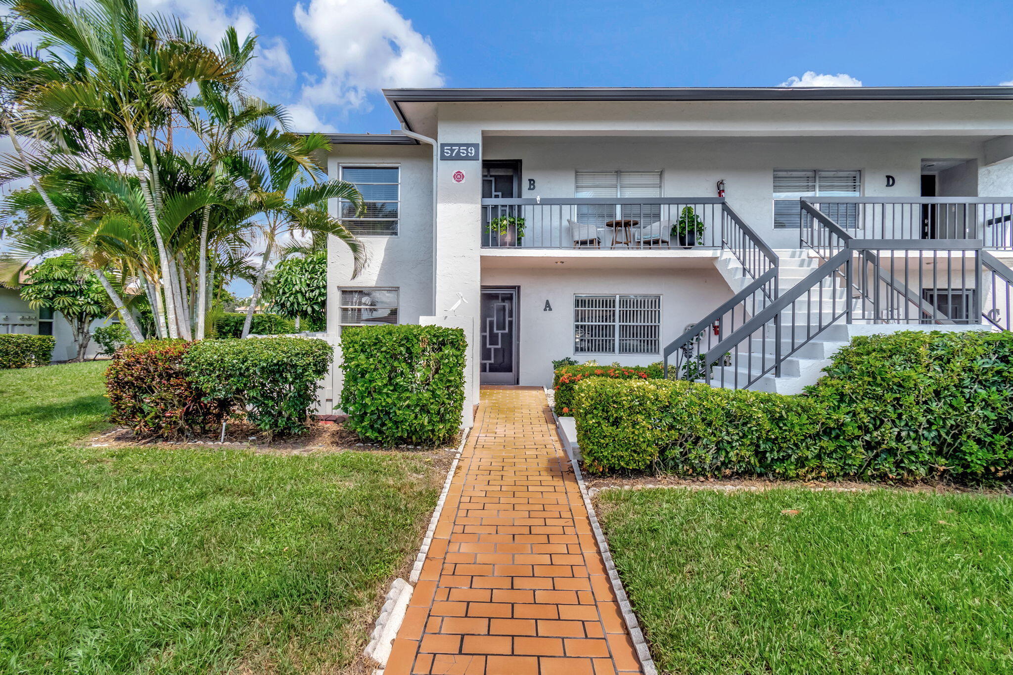
[[[980,140],[961,138],[523,138],[486,137],[485,159],[520,159],[523,197],[572,197],[577,169],[660,170],[661,195],[713,197],[725,181],[728,204],[767,243],[796,248],[797,230],[775,230],[775,169],[840,169],[862,172],[863,196],[909,197],[921,193],[924,158],[976,158]],[[1013,166],[1008,170],[1013,173]],[[1001,171],[996,172],[1001,173]],[[886,187],[886,176],[897,182]],[[534,178],[536,189],[528,190]],[[977,178],[977,177],[976,177]],[[957,183],[970,187],[965,180]],[[977,196],[977,193],[960,196]],[[477,228],[476,228],[477,229]]]

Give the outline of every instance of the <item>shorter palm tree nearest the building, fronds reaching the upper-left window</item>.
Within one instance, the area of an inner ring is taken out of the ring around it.
[[[300,137],[270,132],[265,136],[272,138],[260,142],[260,147],[267,148],[263,153],[264,161],[245,165],[249,200],[262,218],[259,231],[264,239],[264,250],[253,284],[253,296],[246,309],[242,337],[249,335],[267,265],[282,235],[318,233],[337,237],[352,250],[355,260],[353,277],[359,274],[366,262],[362,242],[326,210],[329,199],[343,199],[352,202],[361,213],[364,206],[359,190],[341,180],[321,180],[324,175],[322,167],[315,163],[307,165],[298,159],[314,157],[316,153],[328,150],[330,144],[319,134]],[[280,141],[298,146],[298,151],[284,153],[274,150],[281,145]]]

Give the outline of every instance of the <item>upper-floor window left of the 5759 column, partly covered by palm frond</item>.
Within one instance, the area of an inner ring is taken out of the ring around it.
[[[356,217],[356,207],[341,200],[338,214],[345,227],[361,237],[396,237],[399,216],[400,173],[396,166],[342,166],[341,180],[363,195],[366,213]]]

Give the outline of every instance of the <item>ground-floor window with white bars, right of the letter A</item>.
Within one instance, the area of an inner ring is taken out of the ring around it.
[[[574,296],[573,352],[656,354],[660,296]]]

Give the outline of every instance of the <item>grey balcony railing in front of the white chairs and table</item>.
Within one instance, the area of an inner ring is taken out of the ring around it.
[[[720,197],[482,199],[482,247],[717,249],[732,216]]]

